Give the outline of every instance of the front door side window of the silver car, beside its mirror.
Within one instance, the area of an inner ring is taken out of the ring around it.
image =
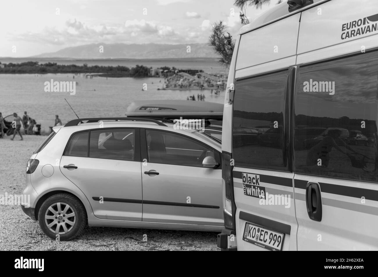
[[[217,152],[193,139],[169,132],[146,130],[149,162],[202,167],[206,156],[220,164]]]

